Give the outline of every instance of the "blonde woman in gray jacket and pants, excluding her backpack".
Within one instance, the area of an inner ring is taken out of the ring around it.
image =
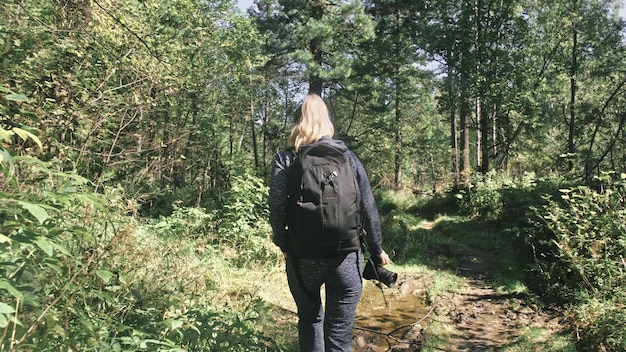
[[[363,164],[343,142],[332,138],[334,127],[328,108],[316,94],[308,95],[299,111],[299,120],[288,140],[292,150],[278,153],[272,166],[269,205],[274,243],[286,254],[289,289],[298,307],[300,351],[352,351],[352,327],[362,291],[359,251],[338,254],[330,259],[304,259],[289,255],[287,224],[287,174],[295,154],[304,145],[329,143],[340,148],[352,161],[361,193],[363,228],[372,256],[382,265],[389,256],[381,246],[382,234],[378,210]],[[325,284],[326,312],[320,297]]]

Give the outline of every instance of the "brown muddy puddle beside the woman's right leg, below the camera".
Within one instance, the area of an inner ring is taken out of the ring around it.
[[[396,286],[382,291],[373,282],[365,282],[355,321],[360,347],[387,351],[428,314],[423,288],[411,286],[410,278],[398,280]]]

